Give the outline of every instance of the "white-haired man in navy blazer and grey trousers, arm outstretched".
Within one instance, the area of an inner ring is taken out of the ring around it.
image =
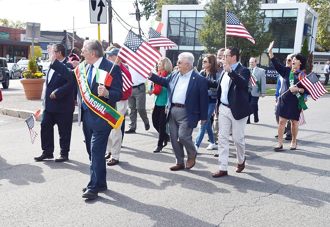
[[[207,119],[209,97],[206,78],[193,70],[194,56],[184,52],[178,56],[178,71],[173,71],[167,77],[149,73],[149,80],[167,87],[169,132],[176,163],[170,170],[184,168],[184,151],[187,152],[186,169],[195,165],[196,149],[192,142],[192,131],[198,121],[203,124]]]

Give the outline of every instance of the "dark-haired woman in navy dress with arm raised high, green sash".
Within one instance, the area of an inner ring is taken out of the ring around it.
[[[298,82],[306,76],[306,71],[304,68],[306,67],[307,60],[303,54],[298,53],[292,56],[292,68],[283,66],[277,62],[276,58],[274,58],[274,54],[272,52],[273,46],[274,41],[269,44],[268,53],[274,68],[283,77],[280,95],[289,89],[288,92],[283,94],[283,96],[278,99],[276,114],[280,116],[278,125],[279,143],[274,150],[279,151],[283,149],[282,139],[287,119],[291,119],[292,140],[290,150],[296,150],[296,138],[298,134],[298,120],[300,117],[300,112],[307,109],[304,102],[304,95],[302,94],[309,94],[301,83]]]

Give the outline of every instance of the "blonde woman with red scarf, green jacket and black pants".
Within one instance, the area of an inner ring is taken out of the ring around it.
[[[167,77],[172,72],[172,63],[168,58],[160,58],[157,61],[158,76]],[[166,114],[167,114],[167,88],[158,84],[153,84],[152,93],[153,98],[152,107],[152,125],[159,133],[157,148],[153,153],[158,153],[163,147],[167,145],[170,138],[166,133]]]

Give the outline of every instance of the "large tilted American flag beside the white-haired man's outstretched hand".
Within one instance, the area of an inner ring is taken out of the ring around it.
[[[133,31],[128,32],[117,56],[145,78],[148,78],[149,72],[162,57],[155,48]]]

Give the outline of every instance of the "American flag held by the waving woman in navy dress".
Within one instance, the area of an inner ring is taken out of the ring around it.
[[[320,98],[322,95],[328,92],[321,84],[315,72],[308,74],[306,77],[300,80],[300,83],[310,93],[312,99],[314,100]]]

